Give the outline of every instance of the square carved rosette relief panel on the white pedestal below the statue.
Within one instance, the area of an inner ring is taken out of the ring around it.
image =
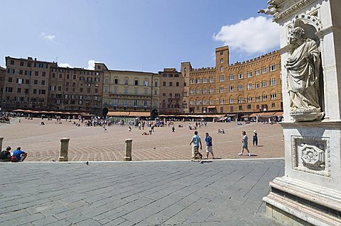
[[[292,136],[291,156],[293,169],[330,177],[329,138]]]

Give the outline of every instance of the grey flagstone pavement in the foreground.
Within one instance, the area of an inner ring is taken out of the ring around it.
[[[261,198],[283,159],[0,162],[0,225],[279,225]]]

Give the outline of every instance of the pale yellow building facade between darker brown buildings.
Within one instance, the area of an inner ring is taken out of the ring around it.
[[[145,115],[151,113],[154,117],[158,115],[159,74],[111,70],[103,63],[95,63],[95,69],[104,73],[104,112],[132,111],[145,112]]]

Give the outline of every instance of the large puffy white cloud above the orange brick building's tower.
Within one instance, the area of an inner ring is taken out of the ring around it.
[[[266,52],[279,46],[279,26],[271,18],[250,17],[222,26],[220,32],[213,35],[213,40],[222,41],[224,45],[247,54]]]

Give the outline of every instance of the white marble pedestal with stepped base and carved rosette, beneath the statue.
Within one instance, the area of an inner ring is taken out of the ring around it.
[[[270,182],[266,212],[283,225],[341,225],[341,122],[281,125],[286,176]]]

